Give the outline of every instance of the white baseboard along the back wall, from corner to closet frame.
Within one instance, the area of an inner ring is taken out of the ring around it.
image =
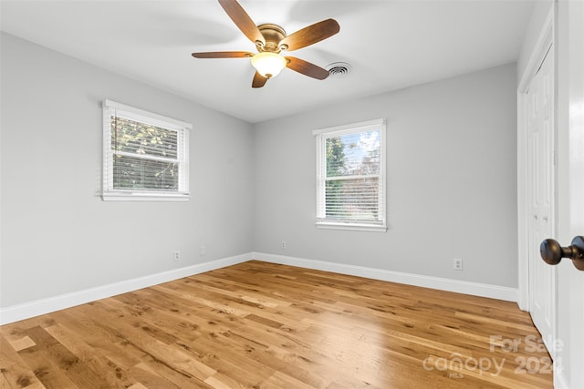
[[[507,302],[517,302],[518,297],[518,291],[516,288],[490,285],[486,283],[451,280],[400,271],[387,271],[345,263],[307,260],[304,258],[266,254],[263,252],[254,252],[254,259],[257,261],[298,266],[319,271],[334,271],[340,274],[354,275],[373,280],[405,283],[408,285],[422,286],[424,288],[438,289],[441,291],[471,294],[474,296],[505,300]]]

